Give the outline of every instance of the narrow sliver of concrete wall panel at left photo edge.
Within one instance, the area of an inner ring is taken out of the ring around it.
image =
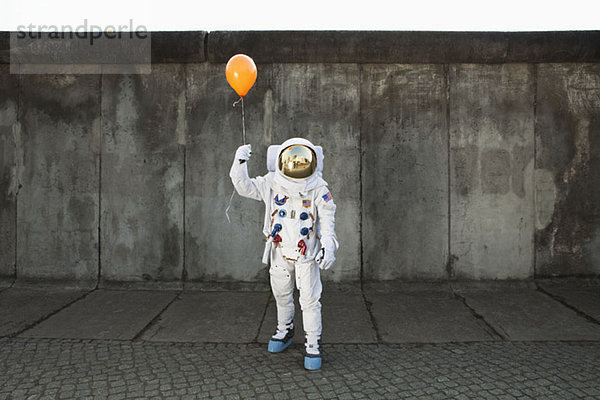
[[[0,65],[0,277],[15,276],[18,75]]]

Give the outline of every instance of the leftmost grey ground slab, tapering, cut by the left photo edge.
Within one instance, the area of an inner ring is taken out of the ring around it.
[[[14,335],[83,296],[78,289],[9,288],[0,292],[0,336]]]

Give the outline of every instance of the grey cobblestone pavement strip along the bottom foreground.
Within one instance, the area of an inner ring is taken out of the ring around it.
[[[0,339],[0,398],[600,399],[600,342],[293,345]]]

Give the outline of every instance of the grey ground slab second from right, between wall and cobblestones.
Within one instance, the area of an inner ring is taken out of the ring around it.
[[[457,289],[466,303],[509,340],[599,340],[594,324],[529,289]]]

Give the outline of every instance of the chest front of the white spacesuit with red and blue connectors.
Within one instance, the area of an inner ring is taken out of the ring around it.
[[[314,201],[314,190],[306,196],[273,192],[270,229],[273,231],[280,227],[273,242],[281,247],[284,257],[288,259],[297,260],[301,255],[314,255],[317,241]]]

